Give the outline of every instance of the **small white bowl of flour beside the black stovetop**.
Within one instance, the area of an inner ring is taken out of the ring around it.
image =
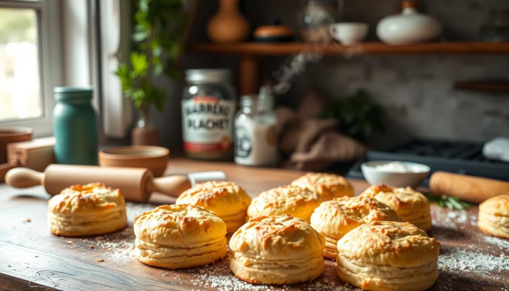
[[[385,183],[394,187],[407,187],[415,188],[428,176],[430,167],[417,163],[399,162],[405,167],[411,169],[411,172],[397,173],[389,172],[386,170],[376,169],[376,166],[387,164],[394,161],[371,161],[365,162],[360,165],[362,174],[368,183],[371,185],[378,185]]]

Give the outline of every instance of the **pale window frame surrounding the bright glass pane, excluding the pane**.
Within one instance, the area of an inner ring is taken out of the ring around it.
[[[63,84],[61,10],[54,0],[0,0],[0,8],[34,9],[37,15],[37,41],[42,116],[0,121],[0,127],[30,127],[35,137],[51,136],[53,87]]]

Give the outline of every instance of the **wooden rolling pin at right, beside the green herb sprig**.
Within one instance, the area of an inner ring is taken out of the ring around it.
[[[468,202],[481,203],[493,196],[509,194],[509,182],[435,172],[430,178],[430,191],[437,195],[457,196]]]

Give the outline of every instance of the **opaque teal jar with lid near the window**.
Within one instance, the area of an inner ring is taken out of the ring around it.
[[[55,87],[53,148],[55,162],[70,165],[98,165],[97,116],[90,87]]]

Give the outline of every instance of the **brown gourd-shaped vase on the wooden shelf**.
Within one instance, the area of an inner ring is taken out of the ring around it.
[[[238,0],[219,0],[219,10],[209,21],[209,37],[216,42],[241,41],[249,35],[249,23],[240,13]]]

